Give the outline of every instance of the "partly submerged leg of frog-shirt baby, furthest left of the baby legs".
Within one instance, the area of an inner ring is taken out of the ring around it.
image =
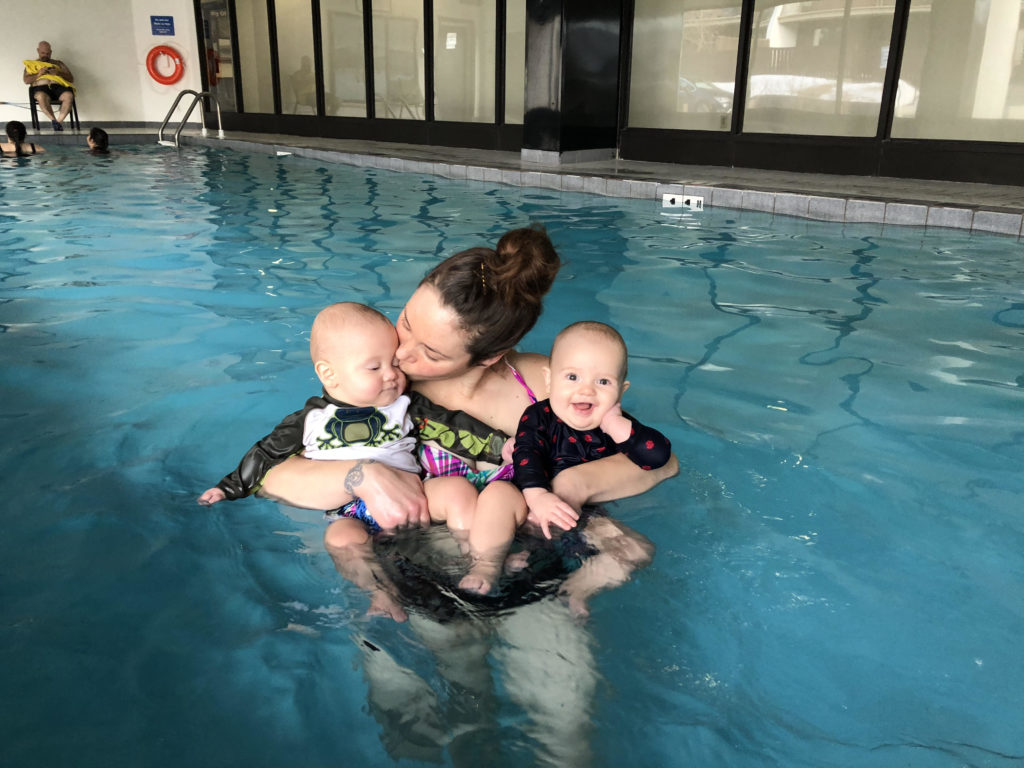
[[[404,622],[409,614],[395,597],[394,585],[374,554],[370,531],[360,520],[342,517],[327,526],[324,546],[345,579],[370,594],[370,615]]]

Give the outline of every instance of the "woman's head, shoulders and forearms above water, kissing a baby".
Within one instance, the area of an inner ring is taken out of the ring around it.
[[[472,248],[434,267],[396,323],[397,357],[412,388],[442,409],[513,434],[534,393],[547,394],[547,357],[517,352],[515,345],[537,323],[559,267],[540,227],[513,229],[496,250]],[[675,457],[660,469],[644,471],[612,456],[560,473],[555,485],[580,509],[641,494],[677,471]],[[261,493],[311,509],[334,509],[358,496],[385,528],[430,521],[419,479],[373,462],[292,457],[267,473]],[[568,530],[577,519],[563,514],[548,522]],[[330,549],[330,526],[325,542]]]

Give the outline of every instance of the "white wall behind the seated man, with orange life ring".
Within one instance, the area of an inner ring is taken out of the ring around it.
[[[173,16],[174,36],[154,36],[151,15]],[[22,61],[36,57],[40,40],[47,40],[53,57],[75,74],[83,127],[160,123],[179,90],[202,87],[199,68],[204,59],[191,0],[50,0],[45,13],[8,13],[0,24],[0,125],[8,120],[29,124],[29,111],[23,109],[28,106],[29,89],[22,82]],[[155,45],[170,45],[184,58],[184,77],[174,85],[160,85],[145,70],[146,54]],[[193,118],[198,122],[198,112]]]

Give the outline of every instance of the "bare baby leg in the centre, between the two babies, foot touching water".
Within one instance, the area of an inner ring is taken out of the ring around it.
[[[469,592],[485,595],[498,582],[515,529],[526,520],[526,501],[511,482],[492,482],[476,500],[473,525],[469,529],[469,552],[473,565],[459,582]]]

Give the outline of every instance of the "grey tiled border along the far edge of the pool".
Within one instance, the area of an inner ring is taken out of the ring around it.
[[[193,138],[189,142],[207,143],[206,139]],[[451,179],[468,179],[529,186],[557,191],[585,191],[612,198],[660,200],[663,195],[699,196],[709,207],[735,208],[760,211],[773,215],[796,216],[818,221],[845,223],[879,223],[899,226],[927,226],[964,229],[988,234],[1024,237],[1024,214],[1010,211],[980,210],[974,208],[929,205],[901,201],[860,200],[820,195],[773,193],[761,189],[737,189],[725,186],[666,183],[650,180],[555,173],[549,170],[523,170],[521,168],[495,168],[485,165],[464,165],[438,161],[413,160],[382,155],[312,150],[306,147],[281,147],[253,141],[219,139],[216,145],[252,151],[286,148],[293,155],[322,160],[329,163],[364,168],[419,173]]]

